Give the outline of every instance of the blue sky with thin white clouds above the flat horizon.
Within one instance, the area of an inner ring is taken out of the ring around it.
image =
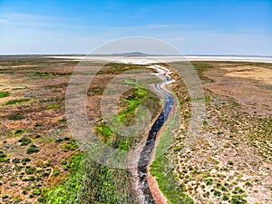
[[[139,36],[184,54],[271,56],[271,28],[271,0],[0,0],[0,54],[87,54]]]

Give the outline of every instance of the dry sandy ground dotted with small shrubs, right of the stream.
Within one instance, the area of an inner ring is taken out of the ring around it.
[[[176,153],[175,174],[195,203],[272,203],[271,64],[211,64],[203,131]]]

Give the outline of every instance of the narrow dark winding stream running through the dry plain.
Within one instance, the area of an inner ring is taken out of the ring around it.
[[[137,173],[139,178],[140,185],[139,187],[144,196],[145,204],[155,203],[155,200],[151,195],[151,189],[147,180],[147,167],[151,160],[151,154],[154,151],[157,134],[160,131],[160,128],[162,127],[163,123],[167,121],[172,105],[174,103],[173,96],[170,94],[170,92],[166,92],[163,90],[163,88],[161,88],[161,86],[165,85],[166,83],[170,83],[171,79],[168,76],[165,76],[164,74],[160,74],[160,78],[163,79],[164,82],[156,83],[154,85],[154,88],[157,92],[160,92],[160,94],[163,95],[165,99],[165,104],[163,110],[160,112],[159,117],[151,126],[151,131],[149,132],[148,139],[141,151],[140,160],[138,161]]]

